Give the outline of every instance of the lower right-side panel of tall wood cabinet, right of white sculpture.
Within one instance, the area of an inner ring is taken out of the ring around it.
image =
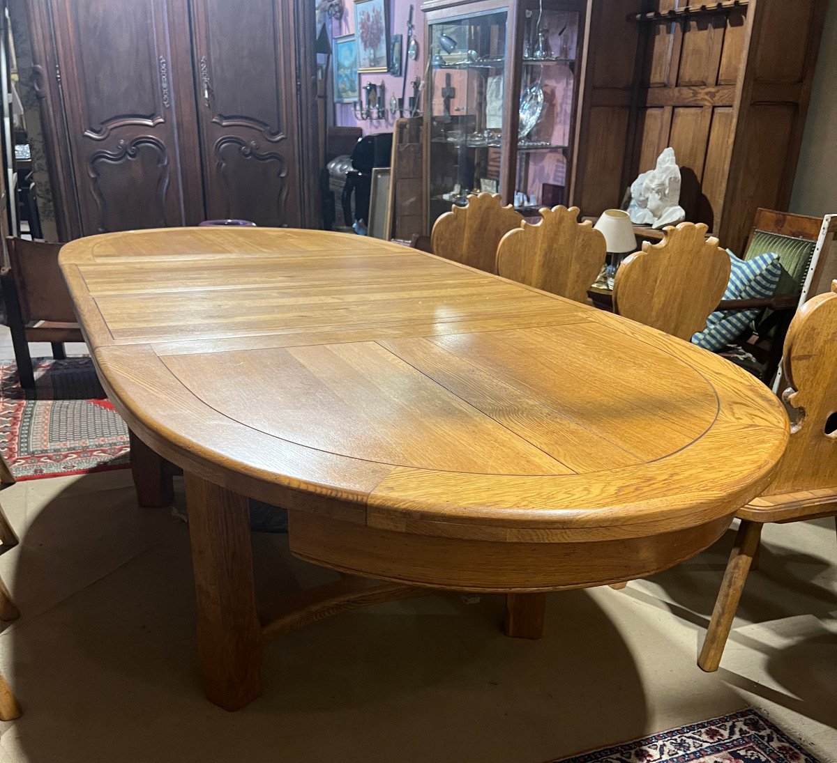
[[[783,208],[781,191],[793,128],[795,104],[750,106],[739,135],[739,164],[727,191],[721,243],[741,252],[758,207]]]

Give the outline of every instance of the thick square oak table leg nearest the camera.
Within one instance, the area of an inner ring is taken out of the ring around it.
[[[237,710],[261,694],[261,627],[244,496],[186,474],[198,658],[207,699]]]

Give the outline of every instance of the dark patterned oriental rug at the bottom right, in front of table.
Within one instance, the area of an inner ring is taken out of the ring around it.
[[[818,763],[755,710],[552,763]]]

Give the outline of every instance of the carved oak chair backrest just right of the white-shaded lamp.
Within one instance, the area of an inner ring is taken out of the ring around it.
[[[730,279],[730,259],[703,223],[665,228],[616,271],[614,310],[689,341],[706,327]]]

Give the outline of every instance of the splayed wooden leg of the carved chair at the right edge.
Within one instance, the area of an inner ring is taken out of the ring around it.
[[[724,573],[721,590],[718,591],[715,609],[712,611],[709,630],[703,642],[701,656],[697,658],[697,664],[707,673],[717,670],[721,664],[721,655],[724,653],[732,628],[732,620],[735,618],[738,602],[741,600],[744,581],[747,580],[747,573],[752,564],[752,556],[756,553],[758,540],[762,535],[762,526],[760,522],[742,520],[741,527],[738,528],[735,545],[727,562],[727,571]]]

